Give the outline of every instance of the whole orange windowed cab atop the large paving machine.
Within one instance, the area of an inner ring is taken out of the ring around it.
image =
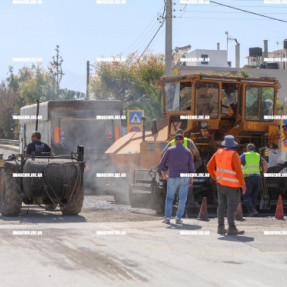
[[[199,145],[219,144],[233,134],[243,142],[262,137],[274,123],[276,80],[208,75],[162,77],[168,140],[177,129]],[[267,116],[267,117],[266,117]]]

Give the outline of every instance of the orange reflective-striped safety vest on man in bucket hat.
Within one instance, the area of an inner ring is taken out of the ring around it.
[[[235,169],[232,167],[232,157],[236,153],[234,150],[219,149],[215,153],[216,181],[224,186],[241,187],[236,177]]]

